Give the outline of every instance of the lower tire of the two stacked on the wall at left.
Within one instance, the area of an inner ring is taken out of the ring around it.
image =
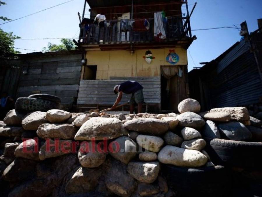
[[[59,109],[59,104],[56,102],[20,97],[15,102],[15,110],[17,111],[48,111],[50,109]]]

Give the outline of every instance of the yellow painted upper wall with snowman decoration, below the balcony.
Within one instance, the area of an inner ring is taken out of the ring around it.
[[[175,49],[179,62],[166,62],[169,50]],[[160,66],[187,65],[187,51],[183,48],[149,49],[155,59],[148,64],[143,56],[146,49],[136,50],[133,55],[126,50],[87,51],[87,65],[97,65],[96,79],[110,79],[110,76],[160,76]]]

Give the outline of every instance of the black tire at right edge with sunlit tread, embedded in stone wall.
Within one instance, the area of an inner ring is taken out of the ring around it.
[[[214,139],[210,145],[221,162],[226,165],[239,168],[261,168],[262,143]]]

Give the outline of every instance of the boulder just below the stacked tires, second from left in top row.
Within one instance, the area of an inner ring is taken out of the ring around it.
[[[24,130],[37,130],[41,124],[48,123],[46,112],[34,111],[25,115],[22,119]]]

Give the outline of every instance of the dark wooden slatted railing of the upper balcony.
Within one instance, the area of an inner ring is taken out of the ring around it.
[[[166,39],[161,41],[173,41],[181,38],[191,37],[189,20],[185,17],[168,17],[167,23],[164,23]],[[108,21],[109,22],[109,21]],[[149,20],[150,29],[145,32],[122,30],[121,21],[111,21],[110,26],[102,27],[95,24],[89,24],[89,29],[85,27],[80,29],[80,38],[78,42],[82,45],[101,45],[101,44],[120,44],[120,43],[150,43],[155,42],[154,38],[154,20]]]

